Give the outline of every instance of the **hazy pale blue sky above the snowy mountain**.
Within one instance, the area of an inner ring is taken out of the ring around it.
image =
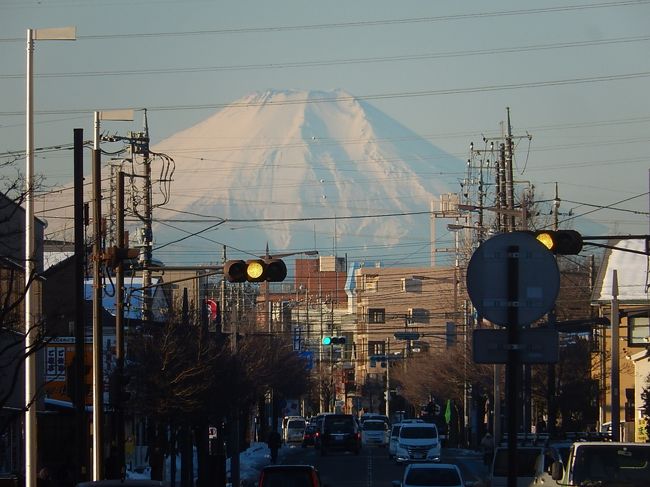
[[[91,138],[97,109],[147,108],[155,143],[254,91],[342,88],[465,160],[510,107],[532,135],[518,180],[648,233],[649,19],[648,1],[0,0],[0,162],[25,146],[26,30],[74,25],[36,45],[36,147]],[[69,160],[36,171],[67,181]]]

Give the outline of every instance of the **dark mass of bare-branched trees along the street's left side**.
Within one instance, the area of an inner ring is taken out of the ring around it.
[[[172,313],[162,325],[145,325],[129,336],[128,408],[147,418],[153,479],[162,479],[164,456],[178,451],[182,484],[190,482],[195,446],[199,483],[207,485],[208,426],[232,428],[239,421],[243,445],[250,415],[263,409],[259,401],[267,391],[289,398],[309,389],[305,363],[289,343],[241,328],[237,335],[208,332],[200,317]]]

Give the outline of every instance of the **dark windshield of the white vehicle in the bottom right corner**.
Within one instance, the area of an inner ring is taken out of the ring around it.
[[[576,449],[573,467],[575,484],[615,480],[621,485],[636,486],[647,485],[649,478],[650,448],[648,447],[613,448],[605,444]],[[605,482],[602,485],[608,484]]]

